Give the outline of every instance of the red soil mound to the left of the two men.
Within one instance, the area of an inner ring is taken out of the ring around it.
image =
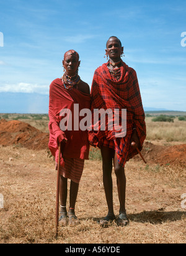
[[[25,122],[0,121],[0,144],[21,145],[27,149],[40,150],[48,148],[49,134],[41,132]]]

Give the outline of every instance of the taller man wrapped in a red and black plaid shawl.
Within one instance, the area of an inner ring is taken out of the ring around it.
[[[102,168],[105,196],[108,214],[100,220],[101,226],[115,220],[113,211],[112,193],[112,159],[115,175],[117,177],[118,198],[120,201],[118,226],[129,224],[125,209],[125,163],[142,149],[146,137],[144,111],[139,92],[138,79],[135,70],[127,66],[121,59],[123,55],[122,43],[117,37],[110,37],[107,41],[107,63],[97,68],[94,73],[91,88],[92,116],[94,109],[126,109],[126,135],[117,137],[117,130],[105,131],[92,129],[89,131],[89,142],[94,147],[99,147],[102,153]],[[92,117],[92,119],[94,119]],[[120,114],[120,121],[123,118]],[[99,119],[99,127],[100,127]]]

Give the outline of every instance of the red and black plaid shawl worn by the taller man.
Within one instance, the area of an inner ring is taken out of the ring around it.
[[[94,73],[91,88],[92,116],[94,109],[112,109],[112,111],[126,109],[126,135],[116,138],[114,130],[95,131],[92,129],[89,131],[89,142],[94,147],[100,147],[102,139],[113,140],[118,161],[124,166],[126,161],[138,153],[130,145],[133,128],[136,128],[139,137],[139,150],[142,149],[146,138],[144,110],[136,71],[122,62],[120,80],[116,81],[110,75],[107,65],[108,63],[104,63]]]

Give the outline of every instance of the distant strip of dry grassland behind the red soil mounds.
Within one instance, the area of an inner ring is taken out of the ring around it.
[[[154,116],[164,114],[166,116],[174,116],[174,122],[152,122]],[[149,141],[161,142],[186,142],[186,121],[179,121],[180,116],[186,116],[186,112],[147,112],[146,113],[146,126],[147,137]],[[31,126],[42,130],[48,131],[48,114],[0,114],[0,119],[19,120],[27,122]]]

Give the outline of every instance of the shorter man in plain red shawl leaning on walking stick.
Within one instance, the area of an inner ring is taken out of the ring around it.
[[[79,113],[74,113],[74,104],[81,109],[91,107],[90,89],[78,75],[80,65],[79,55],[74,50],[64,53],[64,75],[57,78],[50,85],[49,102],[49,130],[50,141],[48,147],[55,157],[56,170],[58,163],[58,145],[61,143],[62,157],[60,160],[60,202],[61,211],[59,222],[61,226],[66,226],[69,219],[69,226],[77,224],[78,217],[75,215],[75,204],[78,196],[79,181],[81,180],[84,160],[89,157],[89,141],[87,130],[66,129],[61,130],[63,115],[61,111],[69,109],[72,113],[73,121],[78,121]],[[71,120],[67,120],[67,122]],[[68,178],[71,180],[69,192],[69,210],[67,214],[66,200],[68,193]],[[69,217],[69,218],[68,218]]]

